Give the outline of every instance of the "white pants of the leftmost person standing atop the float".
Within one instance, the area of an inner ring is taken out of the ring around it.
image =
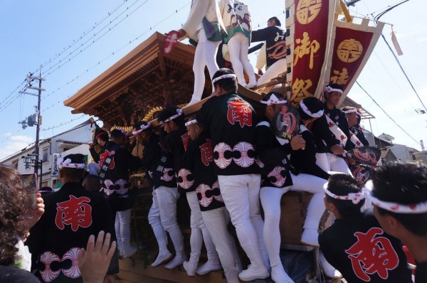
[[[208,67],[209,75],[211,78],[214,76],[218,68],[216,64],[216,52],[220,41],[208,41],[206,33],[203,28],[198,33],[199,42],[196,46],[196,53],[194,54],[193,72],[194,72],[194,92],[191,97],[191,102],[197,102],[203,95],[205,85],[204,68]]]

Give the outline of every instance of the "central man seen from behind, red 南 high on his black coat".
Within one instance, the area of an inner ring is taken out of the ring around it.
[[[255,163],[257,117],[253,107],[236,93],[232,70],[218,70],[212,82],[214,96],[201,107],[196,119],[211,132],[221,195],[238,240],[251,260],[251,267],[238,276],[243,281],[265,279],[270,276],[270,264],[260,215],[260,169]]]

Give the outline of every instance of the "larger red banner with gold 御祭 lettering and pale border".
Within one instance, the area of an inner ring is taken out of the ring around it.
[[[287,28],[291,35],[292,80],[290,102],[297,105],[305,97],[319,97],[324,80],[334,0],[294,0],[288,4]],[[289,82],[288,82],[289,84]]]

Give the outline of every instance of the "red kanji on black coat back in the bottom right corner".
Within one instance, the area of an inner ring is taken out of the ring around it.
[[[371,228],[366,234],[354,233],[357,242],[346,250],[352,261],[354,274],[364,281],[371,281],[369,274],[378,274],[381,279],[389,277],[389,270],[399,265],[399,257],[386,237],[376,237],[384,233],[381,228]]]

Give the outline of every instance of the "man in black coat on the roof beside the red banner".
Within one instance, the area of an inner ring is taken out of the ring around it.
[[[267,66],[264,75],[258,79],[258,85],[286,72],[286,30],[280,25],[279,19],[273,17],[268,19],[267,28],[252,31],[251,42],[265,41],[267,53]]]

